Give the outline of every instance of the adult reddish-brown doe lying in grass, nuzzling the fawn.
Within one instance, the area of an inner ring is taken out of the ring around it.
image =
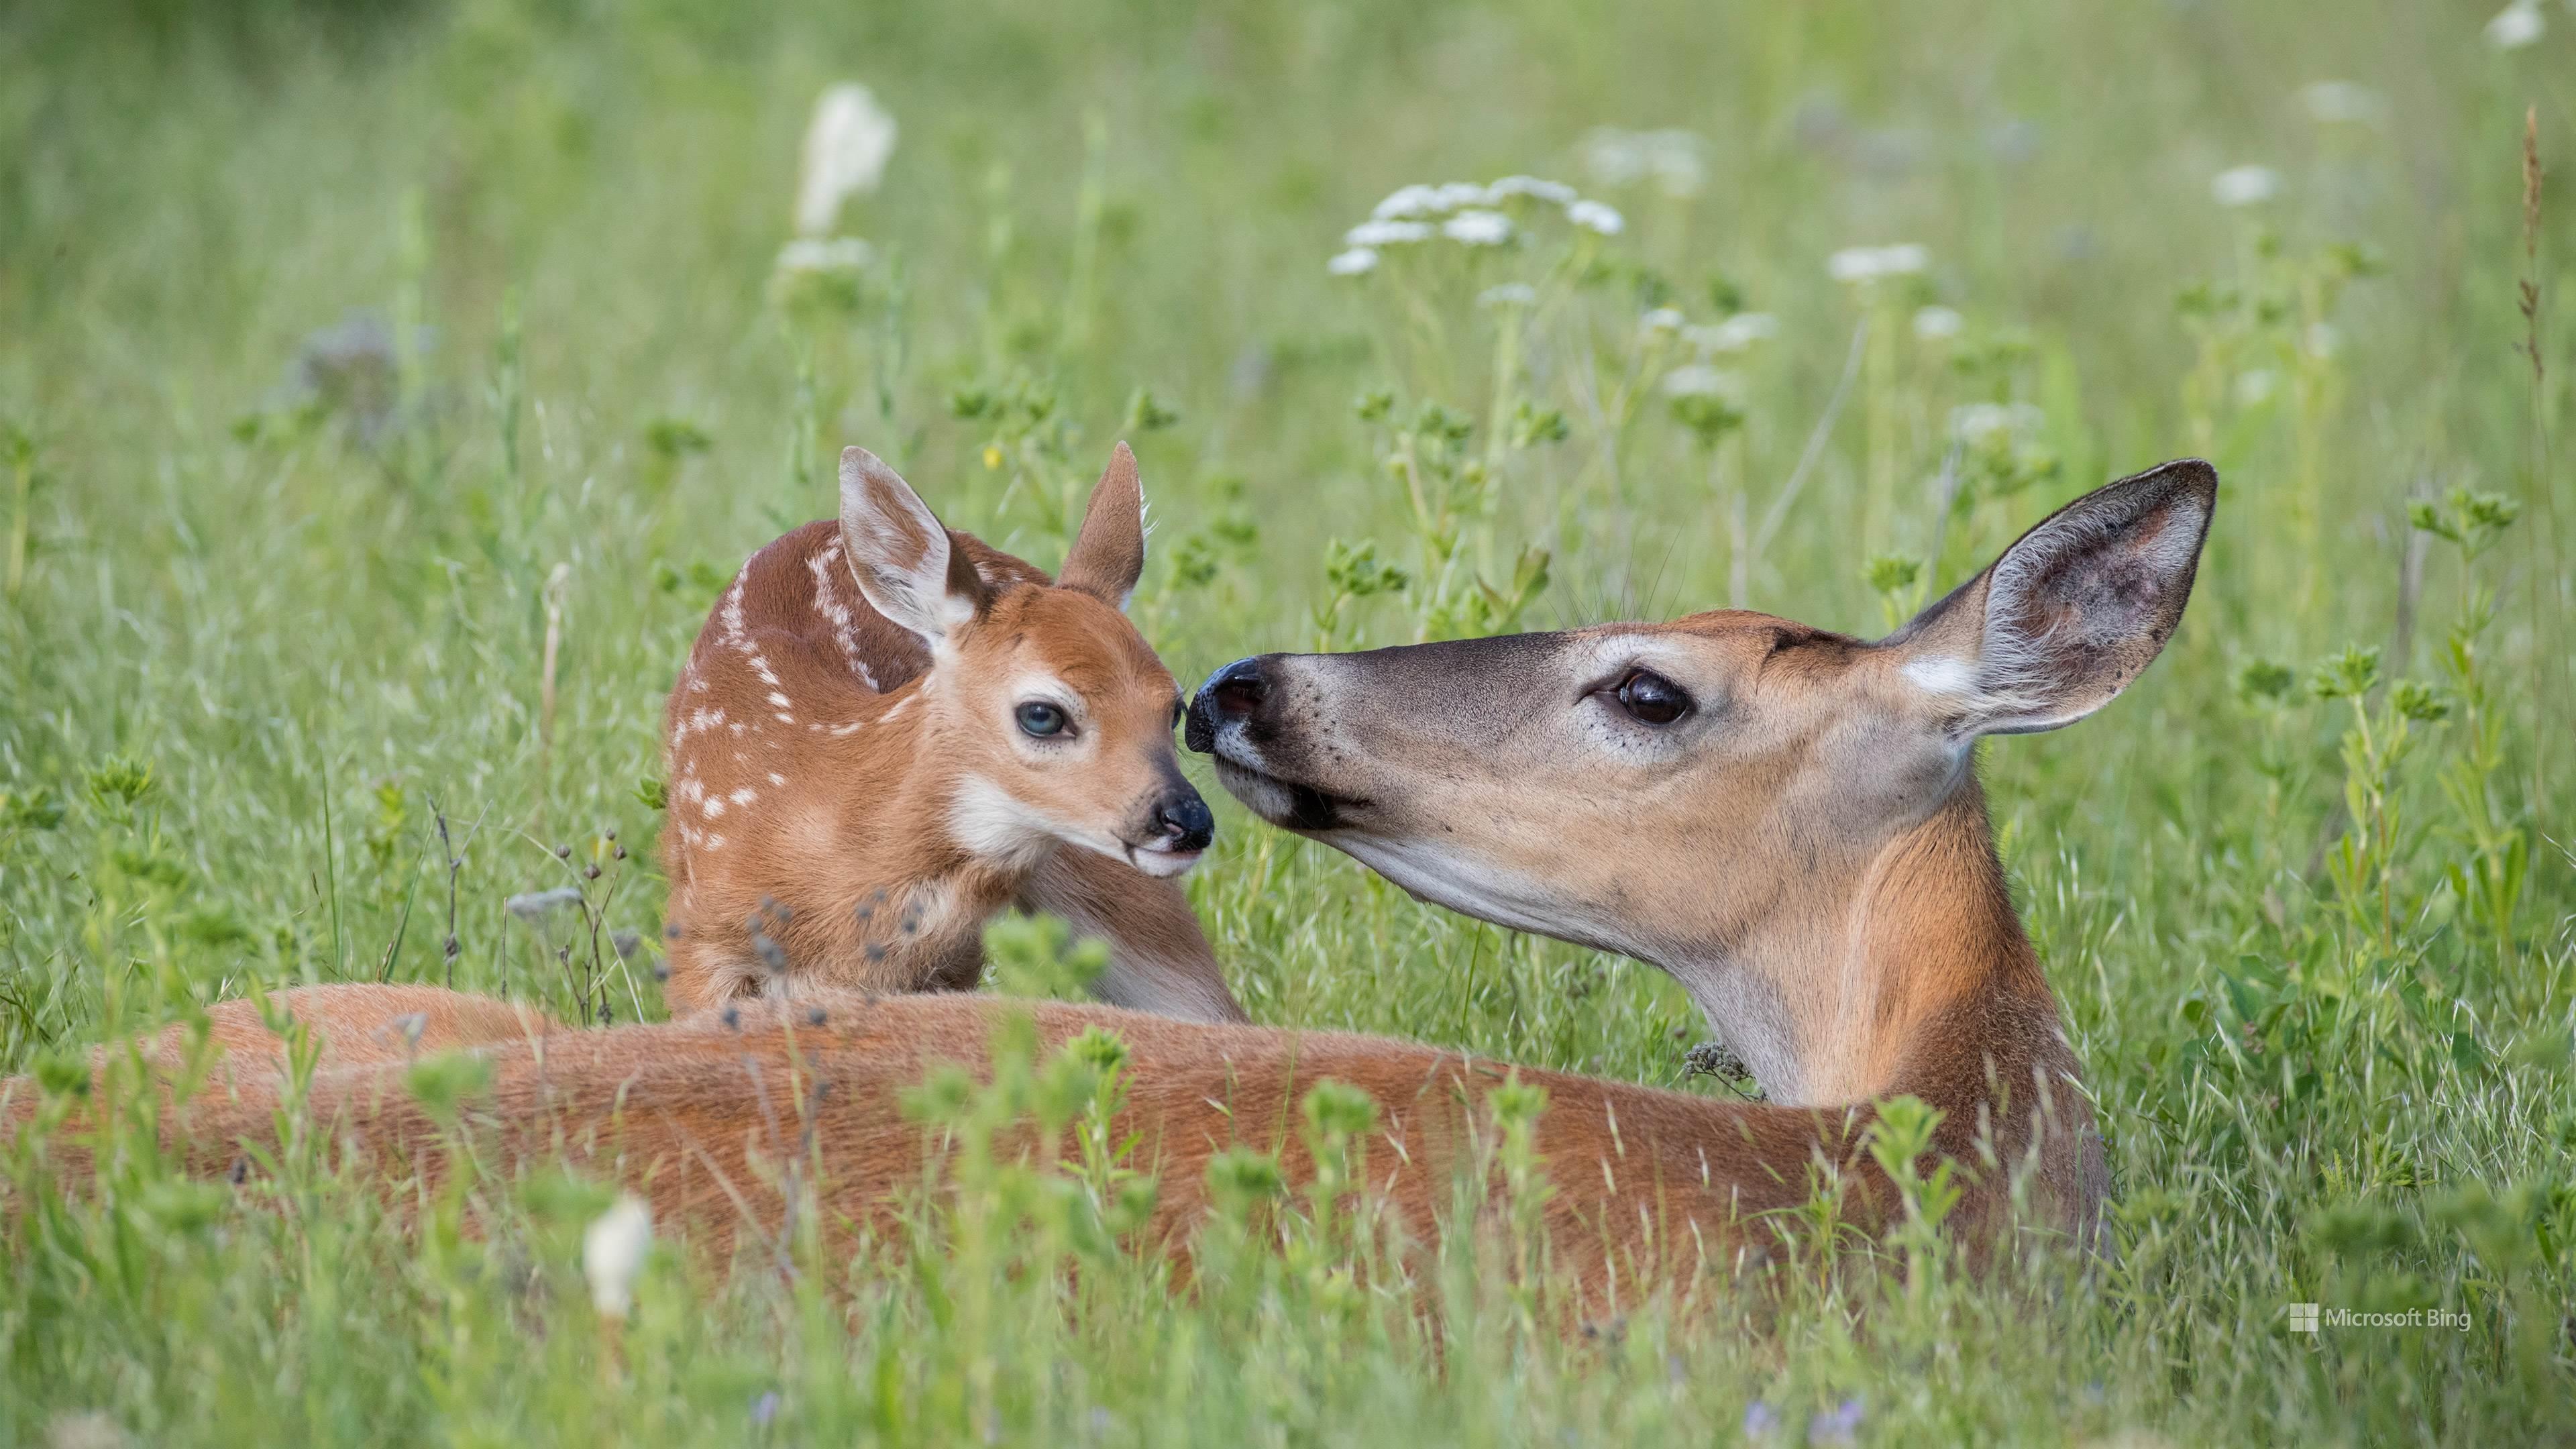
[[[1855,1222],[1883,1225],[1896,1196],[1860,1145],[1893,1093],[1945,1114],[1935,1147],[1965,1181],[1947,1230],[1978,1248],[2014,1225],[2089,1243],[2102,1147],[1973,745],[2081,719],[2138,678],[2182,619],[2215,490],[2200,462],[2112,482],[1880,642],[1726,611],[1267,655],[1218,670],[1190,727],[1265,817],[1417,895],[1674,972],[1752,1065],[1767,1104],[1520,1073],[1551,1093],[1548,1225],[1587,1307],[1759,1245],[1762,1214],[1806,1201],[1819,1168],[1842,1173]],[[930,1150],[899,1093],[933,1062],[981,1060],[1005,1011],[1030,1011],[1041,1042],[1092,1024],[1128,1039],[1113,1137],[1136,1132],[1136,1163],[1159,1171],[1154,1232],[1172,1248],[1203,1214],[1213,1150],[1280,1147],[1293,1178],[1311,1173],[1283,1124],[1324,1078],[1376,1098],[1391,1150],[1370,1155],[1373,1186],[1432,1232],[1507,1075],[1373,1036],[842,995],[489,1047],[479,1119],[505,1160],[572,1152],[719,1250],[775,1232],[793,1191],[863,1222]],[[443,1171],[440,1127],[399,1073],[317,1075],[312,1104],[345,1150]],[[214,1173],[276,1129],[242,1098],[193,1106],[178,1134]]]

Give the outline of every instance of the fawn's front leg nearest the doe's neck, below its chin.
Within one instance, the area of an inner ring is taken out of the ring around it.
[[[1198,913],[1177,879],[1061,846],[1020,887],[1023,910],[1061,915],[1110,946],[1100,1000],[1182,1021],[1249,1021],[1226,990]]]

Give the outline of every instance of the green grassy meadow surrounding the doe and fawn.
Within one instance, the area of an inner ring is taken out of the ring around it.
[[[595,1186],[484,1183],[500,1230],[459,1238],[456,1201],[399,1230],[312,1160],[237,1201],[137,1152],[0,1238],[0,1441],[1708,1444],[1847,1400],[1891,1444],[2576,1439],[2576,183],[2537,260],[2522,193],[2527,108],[2576,175],[2576,13],[2545,15],[2496,52],[2429,3],[10,8],[5,1070],[263,982],[574,1011],[502,902],[569,843],[657,936],[662,688],[734,565],[829,511],[845,441],[1051,565],[1133,438],[1136,619],[1182,678],[1739,583],[1878,632],[2115,472],[2200,451],[2226,487],[2146,681],[1986,750],[2110,1137],[2089,1281],[1798,1269],[1569,1346],[1489,1245],[1422,1269],[1430,1323],[1324,1222],[1182,1292],[1002,1173],[904,1258],[657,1250],[611,1341]],[[845,77],[902,121],[842,219],[878,260],[783,286],[799,134]],[[2313,119],[2298,88],[2336,77],[2378,108]],[[1592,180],[1595,126],[1695,131],[1705,183]],[[2280,193],[2218,206],[2246,162]],[[1396,186],[1507,173],[1628,224],[1327,276]],[[1883,242],[1929,268],[1826,276]],[[1510,348],[1502,281],[1538,297]],[[1922,304],[1960,333],[1919,338]],[[1674,405],[1654,307],[1777,335]],[[296,389],[350,312],[394,374]],[[1953,451],[1968,402],[2035,413]],[[2455,487],[2519,508],[2463,531],[2473,565],[2409,523]],[[2318,699],[2347,645],[2380,686]],[[1190,892],[1262,1021],[1651,1083],[1703,1036],[1646,967],[1218,810]],[[647,964],[611,959],[618,1018],[659,1013]],[[2311,1338],[2290,1302],[2468,1328]]]

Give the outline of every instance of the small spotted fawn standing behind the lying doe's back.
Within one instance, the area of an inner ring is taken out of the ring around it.
[[[672,1013],[822,987],[971,987],[1007,905],[1103,936],[1100,995],[1242,1021],[1170,879],[1216,828],[1180,691],[1126,621],[1126,443],[1048,580],[943,529],[876,454],[840,518],[752,554],[670,691]]]

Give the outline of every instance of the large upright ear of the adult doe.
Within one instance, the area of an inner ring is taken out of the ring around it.
[[[1950,732],[2027,735],[2112,701],[2192,598],[2218,469],[2172,462],[2097,487],[1886,639],[1955,709]]]

